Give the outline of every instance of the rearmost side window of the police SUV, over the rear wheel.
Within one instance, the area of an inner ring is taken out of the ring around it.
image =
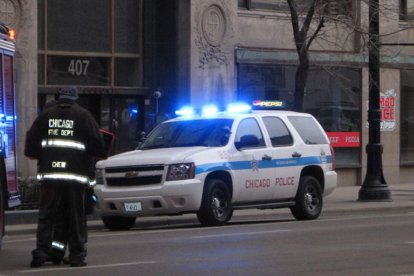
[[[317,145],[329,143],[314,118],[289,116],[288,119],[306,144]]]

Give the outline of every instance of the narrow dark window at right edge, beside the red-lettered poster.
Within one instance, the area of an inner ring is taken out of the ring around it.
[[[401,70],[400,163],[414,165],[414,70]]]

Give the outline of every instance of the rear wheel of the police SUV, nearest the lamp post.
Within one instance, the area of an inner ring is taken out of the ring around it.
[[[323,197],[321,185],[313,176],[303,176],[296,194],[296,205],[290,207],[297,220],[317,219],[322,212]]]

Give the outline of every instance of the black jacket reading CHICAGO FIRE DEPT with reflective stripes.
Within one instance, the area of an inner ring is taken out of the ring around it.
[[[70,100],[46,108],[26,135],[25,155],[39,160],[39,180],[89,184],[93,158],[106,154],[98,124],[86,109]]]

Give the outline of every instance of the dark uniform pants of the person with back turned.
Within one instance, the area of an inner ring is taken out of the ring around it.
[[[85,189],[86,185],[72,181],[42,182],[34,257],[50,256],[52,242],[61,240],[69,245],[71,262],[78,263],[85,259]],[[55,226],[67,231],[57,231],[55,235],[60,236],[53,237]]]

